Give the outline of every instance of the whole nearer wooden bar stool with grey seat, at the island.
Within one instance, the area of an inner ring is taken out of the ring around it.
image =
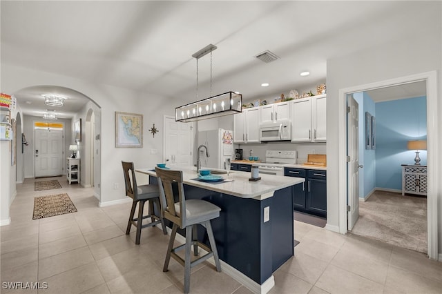
[[[164,262],[163,271],[167,271],[171,257],[184,266],[184,293],[189,293],[191,282],[191,268],[204,260],[213,256],[215,259],[216,271],[221,271],[220,259],[218,259],[218,251],[216,250],[215,237],[211,226],[211,219],[220,216],[218,206],[206,202],[201,199],[186,200],[184,196],[184,185],[182,180],[182,171],[166,170],[164,168],[155,168],[157,173],[158,186],[160,187],[160,197],[162,201],[163,216],[173,222],[171,239],[167,248],[166,260]],[[177,183],[179,201],[175,203],[173,197],[172,183]],[[196,225],[200,224],[206,228],[211,248],[198,242],[196,239]],[[173,248],[175,235],[178,227],[186,228],[186,244]],[[192,233],[194,236],[192,237]],[[191,262],[191,246],[193,245],[194,255],[198,255],[198,246],[208,253],[202,257],[198,257]],[[184,259],[175,252],[184,248]]]

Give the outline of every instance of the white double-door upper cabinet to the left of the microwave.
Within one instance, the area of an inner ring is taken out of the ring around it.
[[[233,143],[260,143],[260,109],[243,109],[233,115]]]

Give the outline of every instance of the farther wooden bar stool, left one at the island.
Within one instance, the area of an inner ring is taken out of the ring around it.
[[[124,184],[126,185],[126,195],[133,199],[131,215],[127,224],[126,235],[131,233],[131,226],[137,228],[135,236],[135,244],[140,244],[141,229],[148,226],[155,226],[161,224],[164,235],[167,235],[166,226],[164,226],[164,219],[162,217],[160,204],[160,191],[157,185],[142,185],[137,186],[137,179],[135,178],[135,169],[133,162],[122,161],[124,172]],[[149,214],[143,216],[144,204],[149,201]],[[134,218],[135,208],[138,204],[138,217]],[[155,207],[157,207],[158,215],[155,215]],[[151,222],[143,225],[143,219],[151,217]]]

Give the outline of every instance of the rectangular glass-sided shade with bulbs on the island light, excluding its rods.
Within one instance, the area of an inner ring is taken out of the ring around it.
[[[189,122],[241,112],[242,95],[225,92],[175,108],[175,121]]]

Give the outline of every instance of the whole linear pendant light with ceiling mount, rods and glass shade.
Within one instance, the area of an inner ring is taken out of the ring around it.
[[[175,121],[189,122],[234,115],[241,112],[242,95],[238,92],[225,92],[212,96],[212,52],[217,47],[209,44],[192,55],[196,59],[196,102],[175,108]],[[198,100],[198,59],[210,53],[210,97]]]

